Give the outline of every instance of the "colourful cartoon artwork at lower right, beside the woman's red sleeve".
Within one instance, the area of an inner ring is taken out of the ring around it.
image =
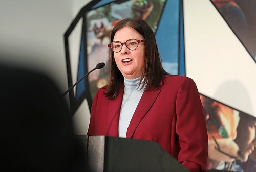
[[[200,95],[208,132],[207,169],[255,171],[256,118]]]

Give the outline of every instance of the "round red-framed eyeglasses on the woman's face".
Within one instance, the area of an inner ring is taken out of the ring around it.
[[[129,39],[126,42],[113,41],[111,44],[108,44],[108,47],[110,47],[113,52],[118,53],[122,50],[123,45],[126,45],[129,50],[136,50],[140,42],[146,41],[137,39]]]

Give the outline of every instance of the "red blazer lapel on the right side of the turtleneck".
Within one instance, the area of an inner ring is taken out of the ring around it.
[[[127,129],[126,138],[132,138],[133,134],[139,125],[140,121],[143,119],[143,117],[146,115],[148,110],[152,107],[155,100],[157,99],[157,96],[159,95],[160,90],[151,90],[151,91],[144,91],[140,102],[133,114],[132,120],[130,122],[130,125]]]

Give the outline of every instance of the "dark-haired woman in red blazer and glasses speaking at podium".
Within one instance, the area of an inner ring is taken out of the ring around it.
[[[110,79],[94,97],[88,135],[156,141],[190,171],[206,171],[207,131],[194,81],[164,71],[141,19],[119,21],[111,41]]]

